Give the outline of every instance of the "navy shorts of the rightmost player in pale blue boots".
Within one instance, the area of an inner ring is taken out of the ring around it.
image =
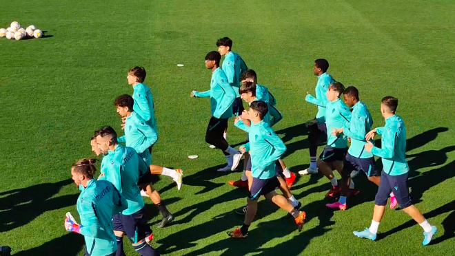
[[[381,173],[381,183],[379,183],[378,193],[376,193],[376,198],[374,198],[374,204],[385,206],[390,193],[393,192],[401,209],[411,206],[411,196],[407,186],[408,174],[392,176],[383,171]]]

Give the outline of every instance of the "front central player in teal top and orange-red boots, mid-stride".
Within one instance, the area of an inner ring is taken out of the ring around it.
[[[303,228],[305,212],[294,209],[283,195],[279,195],[275,192],[276,188],[280,186],[280,183],[275,176],[275,161],[286,151],[286,146],[281,138],[274,133],[272,128],[267,125],[267,122],[263,121],[263,118],[268,112],[267,108],[267,103],[264,103],[263,101],[254,101],[251,103],[247,114],[245,114],[247,118],[251,120],[251,127],[247,127],[246,125],[243,126],[243,129],[249,134],[250,142],[243,145],[242,151],[251,149],[250,155],[253,179],[250,195],[247,198],[245,221],[241,228],[237,228],[228,233],[230,237],[247,237],[248,228],[254,219],[254,215],[256,215],[257,202],[261,195],[272,200],[272,202],[281,209],[291,213],[299,228],[299,232]],[[237,118],[236,120],[240,120],[240,118]]]

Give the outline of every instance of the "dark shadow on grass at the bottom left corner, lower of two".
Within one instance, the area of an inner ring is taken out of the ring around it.
[[[28,241],[19,241],[25,244],[30,244]],[[23,250],[19,253],[14,253],[14,256],[31,256],[31,255],[47,255],[47,256],[62,256],[62,255],[77,255],[84,246],[83,236],[76,233],[68,233],[61,237],[55,238],[49,242],[45,242],[41,246],[30,250]]]

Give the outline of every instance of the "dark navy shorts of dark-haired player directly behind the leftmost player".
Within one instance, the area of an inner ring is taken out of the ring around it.
[[[123,215],[121,213],[112,217],[112,227],[114,231],[121,231],[130,238],[132,244],[145,239],[152,234],[152,229],[148,225],[148,218],[145,217],[144,209],[133,213],[132,215]]]

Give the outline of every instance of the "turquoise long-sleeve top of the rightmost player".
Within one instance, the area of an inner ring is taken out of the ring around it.
[[[403,119],[394,115],[385,119],[385,126],[376,128],[381,147],[373,147],[374,156],[382,158],[385,173],[395,176],[410,171],[406,161],[406,128]]]

